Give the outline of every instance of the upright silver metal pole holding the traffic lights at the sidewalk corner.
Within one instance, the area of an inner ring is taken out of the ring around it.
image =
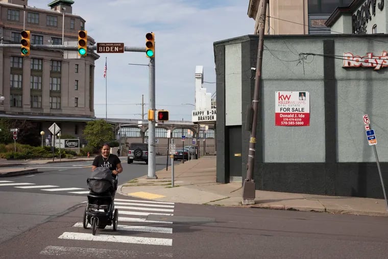
[[[155,114],[155,58],[149,62],[149,110]],[[157,179],[156,176],[156,154],[155,154],[155,120],[148,121],[148,179]]]

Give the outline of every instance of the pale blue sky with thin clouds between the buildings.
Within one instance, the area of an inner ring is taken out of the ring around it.
[[[29,0],[29,6],[49,10],[52,0]],[[204,69],[203,87],[215,93],[213,42],[253,34],[247,15],[249,0],[74,0],[72,14],[86,20],[95,42],[124,42],[144,47],[146,33],[155,33],[156,109],[170,120],[191,121],[195,109],[195,68]],[[100,53],[94,70],[95,116],[144,120],[149,109],[148,66],[141,52]],[[107,80],[104,65],[107,58]],[[105,87],[107,95],[105,95]],[[107,100],[107,102],[105,101]],[[107,109],[106,109],[107,107]]]

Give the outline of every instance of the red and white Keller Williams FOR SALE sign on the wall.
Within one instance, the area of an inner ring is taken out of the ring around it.
[[[309,126],[310,93],[275,91],[275,126]]]

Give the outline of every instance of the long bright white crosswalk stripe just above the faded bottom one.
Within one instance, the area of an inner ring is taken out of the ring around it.
[[[119,242],[130,244],[142,244],[142,245],[160,245],[160,246],[172,246],[172,239],[162,238],[143,238],[143,237],[131,237],[131,236],[117,236],[108,234],[98,234],[93,236],[91,233],[76,233],[76,232],[63,232],[59,239],[70,240],[87,240],[87,241],[102,241],[102,242]]]

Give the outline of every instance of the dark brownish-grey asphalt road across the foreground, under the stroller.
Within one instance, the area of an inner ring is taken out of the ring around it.
[[[117,231],[98,229],[92,236],[81,226],[80,206],[0,244],[0,257],[353,259],[385,258],[388,252],[383,217],[157,202],[127,210],[123,204],[135,202],[116,199],[122,219],[155,206],[174,215],[138,216],[149,222],[119,218]]]

